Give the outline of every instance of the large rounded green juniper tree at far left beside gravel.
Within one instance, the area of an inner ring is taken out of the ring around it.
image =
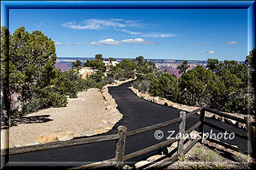
[[[9,96],[13,94],[19,96],[18,101],[23,106],[23,111],[28,105],[35,107],[36,110],[41,104],[49,104],[45,103],[44,96],[58,96],[51,89],[52,80],[56,76],[54,41],[41,31],[29,33],[25,31],[25,27],[19,27],[10,34],[9,43],[2,43],[4,39],[2,32],[7,32],[6,28],[1,27],[1,60],[4,60],[2,51],[3,53],[6,51],[4,45],[9,44],[8,61],[3,62],[3,65],[9,67],[9,73],[3,75],[3,77],[9,76]]]

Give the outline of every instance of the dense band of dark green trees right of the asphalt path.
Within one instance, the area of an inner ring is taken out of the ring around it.
[[[141,76],[132,86],[152,96],[189,106],[204,102],[220,111],[247,113],[248,106],[255,111],[255,49],[244,64],[236,60],[208,59],[206,68],[196,66],[188,70],[188,60],[184,60],[177,68],[183,73],[179,78],[155,70]]]

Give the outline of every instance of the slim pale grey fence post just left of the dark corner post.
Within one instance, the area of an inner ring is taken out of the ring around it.
[[[180,111],[180,117],[182,118],[182,121],[179,123],[180,140],[179,140],[179,143],[178,143],[178,154],[181,158],[183,153],[184,153],[186,112],[185,111]]]

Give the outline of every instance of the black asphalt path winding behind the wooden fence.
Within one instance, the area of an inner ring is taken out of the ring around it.
[[[172,120],[173,118],[179,117],[180,110],[177,110],[170,106],[162,106],[156,103],[152,103],[150,101],[146,101],[144,99],[141,99],[140,97],[137,97],[130,89],[127,89],[127,87],[129,87],[131,83],[132,81],[124,83],[118,87],[109,87],[109,94],[113,96],[116,103],[118,104],[118,110],[120,111],[120,113],[123,114],[123,118],[113,127],[111,131],[105,134],[99,134],[97,136],[116,134],[117,127],[120,125],[124,125],[125,127],[127,127],[127,131],[132,131],[135,129],[140,129],[141,127],[159,124],[161,122],[165,122],[167,120]],[[186,129],[189,129],[189,127],[195,125],[198,120],[199,116],[197,114],[189,117],[186,120]],[[205,118],[205,120],[220,127],[225,127],[232,131],[246,134],[246,131],[244,129],[234,127],[234,125],[228,125],[212,118]],[[156,139],[154,137],[154,133],[157,130],[163,131],[164,137],[162,139]],[[166,140],[166,138],[170,136],[170,132],[168,131],[175,131],[175,134],[179,132],[178,124],[169,125],[167,127],[163,127],[157,130],[127,137],[125,145],[125,155]],[[205,126],[205,132],[210,132],[211,130],[215,134],[223,133],[221,131],[217,131]],[[175,134],[173,134],[172,137],[175,137]],[[221,139],[221,141],[227,142],[231,145],[237,145],[239,148],[247,150],[247,141],[244,139],[236,137],[234,139],[227,140]],[[83,164],[112,159],[115,157],[115,147],[116,141],[106,141],[100,143],[68,146],[65,148],[10,155],[8,158],[8,164],[4,167],[4,169],[16,169],[17,167],[20,168],[20,166],[26,167],[26,169],[33,169],[35,167],[36,169],[45,169],[45,167],[58,167],[59,169],[67,169],[68,167],[81,166]],[[127,162],[125,162],[125,164],[132,165],[134,164],[134,162],[145,159],[145,157],[161,152],[166,153],[166,150],[159,149],[145,155],[140,155],[139,157],[128,160]],[[1,157],[1,159],[3,159],[3,157]]]

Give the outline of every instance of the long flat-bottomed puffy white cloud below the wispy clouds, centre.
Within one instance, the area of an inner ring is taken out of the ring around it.
[[[125,43],[132,43],[132,44],[156,44],[155,42],[145,41],[142,38],[136,38],[136,39],[123,39],[121,41],[116,41],[115,39],[108,38],[108,39],[102,39],[100,41],[93,41],[90,43],[90,45],[122,45]]]

